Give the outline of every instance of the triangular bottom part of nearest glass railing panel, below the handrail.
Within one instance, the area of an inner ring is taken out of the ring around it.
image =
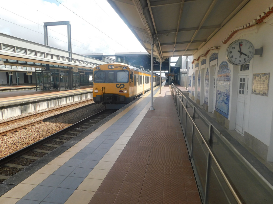
[[[208,203],[237,203],[213,160],[211,162],[209,175]]]

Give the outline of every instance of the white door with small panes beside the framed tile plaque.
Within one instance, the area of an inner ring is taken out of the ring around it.
[[[241,134],[243,134],[245,95],[247,94],[246,82],[246,76],[239,76],[235,129]]]

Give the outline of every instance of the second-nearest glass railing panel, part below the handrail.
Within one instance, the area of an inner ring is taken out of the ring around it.
[[[206,172],[207,172],[207,148],[203,143],[200,135],[198,134],[196,128],[194,128],[193,134],[193,145],[192,145],[192,159],[194,160],[196,173],[200,179],[200,184],[202,189],[205,189],[206,184]]]

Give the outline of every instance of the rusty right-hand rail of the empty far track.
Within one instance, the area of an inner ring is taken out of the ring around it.
[[[76,103],[76,104],[79,104],[79,103]],[[91,103],[91,104],[88,104],[88,105],[85,105],[85,106],[90,106],[90,105],[92,106],[92,104],[94,105],[95,103]],[[70,104],[70,105],[68,105],[68,106],[73,106],[73,105],[75,105],[75,104]],[[41,123],[41,122],[48,121],[48,120],[50,120],[50,119],[52,119],[52,118],[56,118],[56,117],[59,117],[59,116],[61,116],[61,115],[65,115],[65,114],[67,114],[67,113],[69,113],[69,112],[71,112],[71,111],[75,111],[75,110],[81,109],[82,107],[85,107],[85,106],[81,106],[81,107],[75,108],[75,109],[73,109],[73,110],[68,110],[68,111],[66,111],[66,112],[59,113],[59,114],[57,114],[57,115],[49,116],[49,117],[47,117],[47,118],[43,118],[43,119],[40,119],[40,120],[37,120],[37,121],[34,121],[34,122],[30,122],[30,123],[28,123],[28,124],[24,124],[24,125],[21,125],[21,126],[17,126],[17,127],[15,127],[15,128],[11,128],[11,129],[9,129],[9,130],[2,131],[2,132],[0,132],[0,136],[3,136],[3,135],[8,134],[8,133],[15,132],[15,131],[17,131],[17,130],[22,130],[23,128],[27,128],[27,127],[29,127],[29,126],[32,126],[32,125],[35,125],[35,124],[38,124],[38,123]],[[65,106],[64,106],[64,107],[65,107]],[[67,107],[67,106],[66,106],[66,107]],[[62,107],[62,108],[63,108],[63,107]],[[62,108],[53,109],[52,111],[59,110],[59,109],[62,109]],[[35,116],[35,114],[32,115],[32,116]],[[26,117],[26,118],[29,118],[29,117]]]

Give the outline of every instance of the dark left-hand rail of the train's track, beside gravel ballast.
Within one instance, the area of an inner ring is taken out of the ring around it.
[[[0,158],[0,165],[7,163],[8,161],[10,161],[10,160],[12,160],[12,159],[14,159],[14,158],[16,158],[16,157],[24,154],[25,152],[30,151],[31,149],[33,149],[33,148],[35,148],[35,147],[37,147],[37,146],[39,146],[39,145],[41,145],[41,144],[43,144],[43,143],[51,140],[51,139],[54,139],[55,137],[57,137],[57,136],[65,133],[65,132],[67,132],[67,131],[75,128],[75,127],[77,127],[78,125],[83,124],[84,122],[86,122],[86,121],[88,121],[88,120],[96,117],[97,115],[100,115],[101,113],[103,113],[105,111],[106,111],[106,109],[101,110],[100,112],[97,112],[97,113],[95,113],[95,114],[93,114],[93,115],[91,115],[91,116],[89,116],[89,117],[87,117],[85,119],[82,119],[81,121],[76,122],[75,124],[70,125],[70,126],[64,128],[62,130],[59,130],[58,132],[53,133],[53,134],[51,134],[51,135],[49,135],[49,136],[47,136],[47,137],[45,137],[45,138],[43,138],[43,139],[41,139],[41,140],[39,140],[37,142],[34,142],[31,145],[28,145],[28,146],[26,146],[26,147],[24,147],[22,149],[19,149],[16,152],[13,152],[13,153],[11,153],[11,154],[3,157],[3,158]]]

